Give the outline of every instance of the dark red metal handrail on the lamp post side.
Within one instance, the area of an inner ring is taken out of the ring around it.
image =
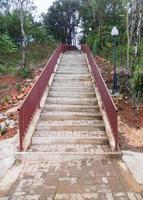
[[[81,50],[87,55],[89,64],[91,66],[92,75],[95,79],[95,83],[97,85],[97,88],[99,90],[104,109],[107,113],[108,120],[112,129],[112,132],[114,134],[114,140],[115,140],[115,149],[118,148],[118,114],[117,114],[117,107],[114,104],[112,97],[108,91],[108,88],[105,84],[105,81],[98,69],[98,66],[95,62],[95,59],[88,47],[88,45],[82,45]]]

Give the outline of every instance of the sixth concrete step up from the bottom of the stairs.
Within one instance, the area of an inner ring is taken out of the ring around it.
[[[96,98],[58,98],[58,97],[48,97],[46,100],[47,104],[68,104],[68,105],[97,105]]]

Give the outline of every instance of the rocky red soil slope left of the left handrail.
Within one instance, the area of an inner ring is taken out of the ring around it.
[[[35,78],[30,81],[16,78],[12,75],[0,75],[0,113],[5,113],[7,110],[19,106],[40,73],[41,69],[35,71]],[[11,114],[9,119],[17,121],[17,113]],[[0,119],[0,123],[1,122],[4,122],[4,120]],[[16,133],[17,125],[13,129],[7,128],[5,134],[0,134],[0,140],[13,137]]]

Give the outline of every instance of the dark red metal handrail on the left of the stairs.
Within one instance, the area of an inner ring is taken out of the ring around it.
[[[40,104],[40,100],[48,85],[51,74],[54,72],[54,68],[57,64],[60,54],[64,53],[65,51],[74,49],[75,47],[73,46],[63,44],[57,47],[45,68],[43,69],[41,75],[35,82],[34,86],[31,88],[25,100],[18,108],[20,151],[23,150],[23,140],[25,138],[26,132],[30,126],[30,122],[34,116],[34,113]]]

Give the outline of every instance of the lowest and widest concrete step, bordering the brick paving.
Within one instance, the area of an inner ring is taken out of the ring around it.
[[[64,162],[64,161],[73,161],[80,159],[92,159],[101,160],[101,159],[117,159],[121,158],[121,152],[101,152],[96,150],[94,152],[17,152],[15,153],[16,160],[19,161],[55,161],[55,162]]]

